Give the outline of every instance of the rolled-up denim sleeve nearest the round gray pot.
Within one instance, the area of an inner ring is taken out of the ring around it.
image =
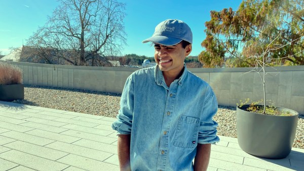
[[[206,96],[200,120],[198,143],[215,144],[219,142],[219,137],[216,135],[218,124],[213,120],[213,116],[216,114],[218,106],[211,87],[208,87]]]

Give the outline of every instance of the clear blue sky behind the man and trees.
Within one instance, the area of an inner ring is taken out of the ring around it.
[[[125,54],[152,57],[154,48],[141,42],[154,33],[155,27],[166,19],[182,20],[191,27],[193,45],[191,56],[202,51],[202,41],[206,38],[205,22],[211,19],[210,11],[223,8],[238,9],[241,0],[119,0],[126,4],[124,19],[127,33]],[[55,0],[0,0],[0,51],[10,53],[10,47],[21,47],[39,26],[47,22],[48,16],[59,5]]]

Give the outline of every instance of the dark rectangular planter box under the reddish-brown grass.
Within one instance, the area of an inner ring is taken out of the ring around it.
[[[13,101],[17,99],[24,99],[24,85],[0,85],[0,100]]]

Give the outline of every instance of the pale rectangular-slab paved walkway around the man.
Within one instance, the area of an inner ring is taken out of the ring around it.
[[[114,120],[0,101],[0,171],[119,170]],[[304,149],[270,160],[245,153],[237,139],[220,139],[208,171],[304,170]]]

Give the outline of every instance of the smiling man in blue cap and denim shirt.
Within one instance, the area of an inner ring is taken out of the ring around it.
[[[219,141],[212,120],[217,101],[211,87],[184,65],[192,31],[183,21],[165,20],[146,42],[154,43],[157,65],[128,77],[112,124],[119,134],[120,168],[206,170],[211,144]]]

